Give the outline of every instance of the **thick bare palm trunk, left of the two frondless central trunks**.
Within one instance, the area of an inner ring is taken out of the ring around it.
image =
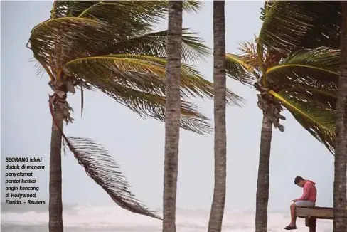
[[[176,231],[176,191],[180,125],[182,1],[169,1],[167,33],[163,231]]]

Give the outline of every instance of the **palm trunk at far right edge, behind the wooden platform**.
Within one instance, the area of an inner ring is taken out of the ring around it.
[[[347,1],[341,1],[341,68],[338,79],[338,100],[335,142],[335,174],[333,181],[333,232],[347,231]]]

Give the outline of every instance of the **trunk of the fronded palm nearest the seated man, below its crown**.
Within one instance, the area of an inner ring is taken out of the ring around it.
[[[272,121],[264,112],[262,115],[262,132],[260,137],[255,232],[267,232],[267,203],[269,201],[269,163],[272,139]]]

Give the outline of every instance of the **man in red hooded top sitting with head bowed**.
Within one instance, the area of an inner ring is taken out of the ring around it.
[[[294,184],[297,186],[304,188],[304,193],[299,199],[293,200],[293,204],[290,205],[290,216],[292,217],[292,221],[290,224],[284,229],[286,230],[295,230],[297,229],[297,216],[295,215],[295,208],[297,206],[308,206],[314,207],[316,206],[317,199],[317,189],[316,184],[313,181],[306,180],[301,176],[297,176],[294,179]]]

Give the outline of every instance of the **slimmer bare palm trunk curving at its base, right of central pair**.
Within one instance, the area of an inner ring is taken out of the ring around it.
[[[222,230],[226,184],[225,131],[225,1],[213,1],[213,90],[215,120],[215,186],[208,223],[209,232]]]

